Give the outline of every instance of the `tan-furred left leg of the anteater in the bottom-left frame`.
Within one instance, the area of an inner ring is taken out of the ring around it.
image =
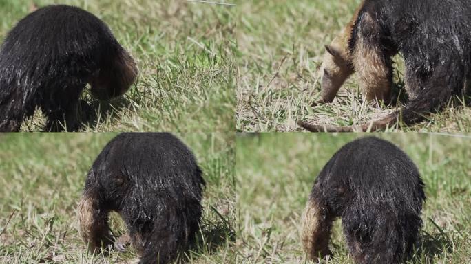
[[[108,212],[100,207],[94,195],[83,195],[78,208],[79,233],[90,251],[112,244],[111,230],[108,225]]]

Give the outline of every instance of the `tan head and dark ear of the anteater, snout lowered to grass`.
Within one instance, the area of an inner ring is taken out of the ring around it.
[[[332,102],[346,78],[353,73],[350,54],[344,46],[337,40],[334,40],[331,45],[326,45],[326,54],[322,61],[324,74],[321,85],[321,96],[324,102]]]

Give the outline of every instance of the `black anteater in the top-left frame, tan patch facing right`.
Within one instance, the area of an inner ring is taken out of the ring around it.
[[[87,83],[107,100],[124,94],[136,74],[134,59],[93,14],[66,5],[36,10],[1,45],[0,131],[18,131],[36,107],[47,131],[74,131]]]

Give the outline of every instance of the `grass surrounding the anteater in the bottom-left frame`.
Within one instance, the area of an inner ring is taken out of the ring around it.
[[[118,263],[87,253],[79,238],[76,206],[92,162],[114,133],[0,135],[0,263]],[[229,263],[235,221],[233,137],[180,133],[204,172],[202,231],[178,263]],[[125,228],[116,214],[112,230]]]

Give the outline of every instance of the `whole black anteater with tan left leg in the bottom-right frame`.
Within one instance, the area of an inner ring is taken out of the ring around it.
[[[329,254],[342,218],[355,263],[401,263],[412,253],[425,201],[417,168],[399,148],[365,137],[340,148],[315,179],[302,219],[308,259]]]

